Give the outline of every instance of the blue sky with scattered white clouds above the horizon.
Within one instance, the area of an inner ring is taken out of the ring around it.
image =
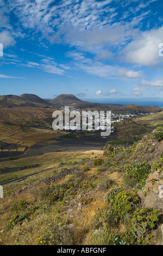
[[[0,0],[0,7],[0,95],[163,97],[161,0]]]

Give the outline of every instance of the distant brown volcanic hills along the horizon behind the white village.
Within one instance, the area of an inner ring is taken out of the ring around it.
[[[81,110],[111,110],[115,114],[146,114],[149,112],[161,112],[163,109],[158,106],[137,106],[135,104],[103,104],[83,101],[73,94],[60,94],[54,99],[42,99],[35,94],[22,94],[21,96],[6,95],[0,96],[0,108],[50,108],[59,109],[61,106],[71,106]]]

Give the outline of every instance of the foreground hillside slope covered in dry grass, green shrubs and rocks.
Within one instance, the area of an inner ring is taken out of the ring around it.
[[[0,199],[0,243],[161,245],[162,151],[159,127],[133,146],[108,144],[102,157],[28,180]]]

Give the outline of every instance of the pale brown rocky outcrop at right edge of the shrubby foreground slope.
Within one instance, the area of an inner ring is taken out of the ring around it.
[[[134,157],[140,162],[151,164],[145,187],[137,192],[141,198],[142,207],[155,208],[163,214],[163,130],[153,130],[136,146]]]

